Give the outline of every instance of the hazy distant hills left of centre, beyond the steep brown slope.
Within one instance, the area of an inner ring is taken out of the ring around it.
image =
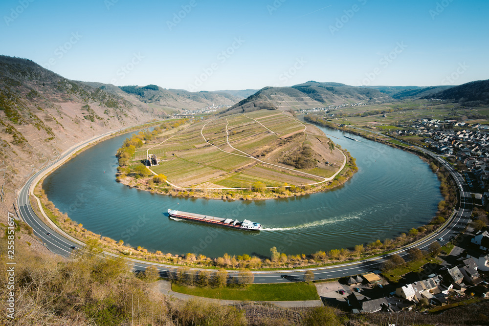
[[[150,108],[164,110],[171,114],[179,109],[201,109],[215,106],[232,106],[241,98],[226,92],[189,92],[185,89],[166,89],[156,85],[114,87],[110,84],[85,83],[91,86],[105,86],[111,94],[122,96],[128,101],[140,101]]]

